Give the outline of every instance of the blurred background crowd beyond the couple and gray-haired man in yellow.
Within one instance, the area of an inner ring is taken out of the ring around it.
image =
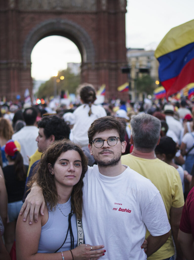
[[[124,154],[133,151],[130,144],[133,115],[147,113],[161,120],[161,141],[155,154],[162,161],[179,172],[184,197],[194,186],[194,106],[190,100],[149,100],[123,101],[105,100],[95,104],[95,89],[87,84],[81,86],[80,102],[59,105],[51,108],[49,102],[44,105],[22,103],[1,103],[0,109],[0,216],[5,226],[5,247],[10,252],[15,240],[17,216],[22,205],[26,177],[32,163],[41,157],[36,138],[38,122],[45,116],[56,114],[69,125],[69,139],[87,151],[87,131],[91,123],[102,116],[111,115],[122,118],[126,125]],[[35,120],[34,120],[34,119]],[[90,156],[90,155],[88,155]],[[35,159],[34,159],[35,158]],[[89,158],[90,166],[95,164]],[[8,199],[7,199],[8,197]],[[2,232],[3,234],[3,232]],[[6,253],[5,253],[6,254]],[[8,258],[4,259],[9,259]]]

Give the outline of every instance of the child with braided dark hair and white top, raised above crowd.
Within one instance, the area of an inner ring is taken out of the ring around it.
[[[72,129],[72,141],[82,147],[88,146],[88,129],[91,123],[102,116],[106,116],[105,109],[100,105],[94,105],[96,92],[91,84],[83,84],[80,88],[80,98],[83,105],[73,112],[75,124]]]

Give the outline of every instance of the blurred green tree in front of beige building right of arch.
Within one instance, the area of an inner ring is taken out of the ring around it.
[[[143,75],[135,80],[136,90],[141,92],[146,92],[147,94],[153,94],[155,89],[154,80],[150,75]]]

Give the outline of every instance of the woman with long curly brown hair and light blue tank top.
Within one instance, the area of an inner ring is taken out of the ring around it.
[[[56,141],[42,155],[37,167],[31,184],[36,181],[42,188],[46,201],[44,216],[40,215],[38,222],[29,225],[19,215],[17,259],[99,259],[104,250],[97,249],[103,245],[91,246],[77,241],[76,217],[78,221],[82,218],[83,177],[87,171],[82,149],[67,140]]]

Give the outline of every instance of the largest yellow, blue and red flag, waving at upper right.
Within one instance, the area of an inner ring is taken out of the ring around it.
[[[167,97],[194,82],[194,20],[172,28],[155,50]]]

